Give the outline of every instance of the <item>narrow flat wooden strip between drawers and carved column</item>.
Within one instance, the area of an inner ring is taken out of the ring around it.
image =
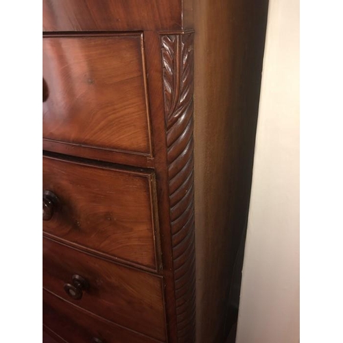
[[[161,247],[163,251],[163,280],[165,281],[165,303],[169,342],[178,342],[176,326],[176,306],[174,289],[173,252],[171,243],[169,177],[167,171],[167,143],[165,135],[165,115],[163,101],[163,69],[161,61],[161,36],[156,32],[145,32],[145,53],[147,73],[149,74],[150,106],[156,113],[152,120],[154,136],[156,189],[158,213],[161,228]],[[158,114],[158,115],[157,115]]]

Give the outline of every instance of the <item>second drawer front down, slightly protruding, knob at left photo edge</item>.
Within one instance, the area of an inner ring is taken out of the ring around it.
[[[43,218],[45,233],[156,270],[152,172],[43,157],[44,192],[58,198],[54,213]]]

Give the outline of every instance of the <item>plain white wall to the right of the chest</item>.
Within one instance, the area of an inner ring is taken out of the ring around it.
[[[299,1],[267,25],[237,343],[299,342]]]

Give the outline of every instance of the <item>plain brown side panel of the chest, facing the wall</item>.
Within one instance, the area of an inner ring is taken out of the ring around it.
[[[268,0],[194,0],[197,343],[225,342],[248,220]],[[206,51],[206,54],[204,54]]]

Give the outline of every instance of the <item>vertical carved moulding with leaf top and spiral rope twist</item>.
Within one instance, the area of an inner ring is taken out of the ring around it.
[[[178,343],[195,342],[193,34],[161,36]]]

